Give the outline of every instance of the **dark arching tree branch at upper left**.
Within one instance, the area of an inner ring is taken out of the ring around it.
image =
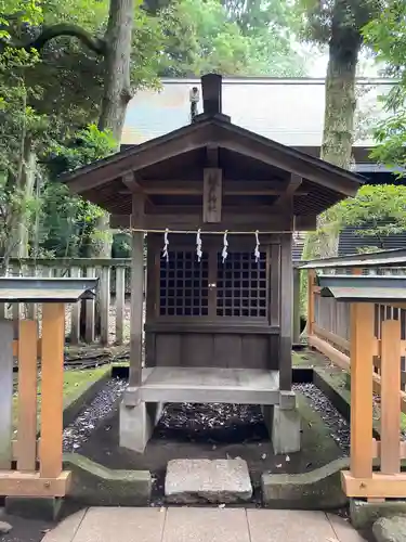
[[[78,38],[86,47],[97,54],[105,54],[106,42],[102,38],[95,38],[81,26],[61,23],[53,26],[44,26],[41,34],[28,42],[10,42],[9,46],[15,49],[37,49],[40,51],[54,38],[70,36]]]

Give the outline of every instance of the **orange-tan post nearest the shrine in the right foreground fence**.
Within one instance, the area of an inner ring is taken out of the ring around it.
[[[374,312],[369,302],[352,304],[350,309],[351,475],[355,478],[372,475]]]

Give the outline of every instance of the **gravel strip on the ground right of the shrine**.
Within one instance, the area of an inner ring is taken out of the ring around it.
[[[331,438],[337,442],[343,455],[350,455],[350,424],[342,417],[331,401],[314,384],[294,384],[294,391],[303,393],[318,412],[329,428]]]

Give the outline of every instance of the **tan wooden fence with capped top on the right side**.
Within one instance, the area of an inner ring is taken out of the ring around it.
[[[316,269],[315,264],[307,271],[309,345],[351,374],[351,466],[342,472],[343,490],[349,498],[374,502],[404,498],[401,462],[406,459],[406,441],[401,438],[400,414],[406,413],[405,299],[378,305],[322,297]],[[342,266],[337,273],[343,274]],[[404,269],[365,271],[357,266],[352,273],[404,274]],[[372,438],[374,393],[380,396],[380,441]]]

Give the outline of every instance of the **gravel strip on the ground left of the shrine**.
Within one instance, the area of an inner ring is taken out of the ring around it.
[[[127,382],[114,378],[106,383],[93,401],[64,430],[64,452],[76,452],[100,424],[114,410],[118,399],[127,387]]]

